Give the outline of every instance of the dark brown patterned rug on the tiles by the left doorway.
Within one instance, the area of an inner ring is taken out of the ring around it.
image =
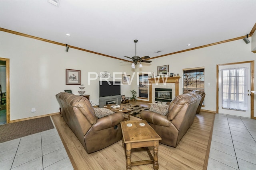
[[[0,125],[0,143],[53,128],[50,116]]]

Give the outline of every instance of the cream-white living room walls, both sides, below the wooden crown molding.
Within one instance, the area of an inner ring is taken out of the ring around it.
[[[222,43],[166,57],[152,59],[152,63],[142,63],[142,68],[131,68],[131,63],[120,63],[120,60],[104,57],[70,48],[30,39],[0,31],[0,57],[10,59],[10,120],[22,119],[56,113],[59,105],[55,95],[71,89],[78,94],[79,85],[65,85],[65,69],[81,70],[81,83],[85,85],[90,101],[98,104],[98,80],[88,85],[88,72],[108,71],[131,75],[135,72],[131,85],[123,85],[121,94],[131,96],[130,90],[137,88],[137,72],[155,72],[157,66],[169,64],[169,72],[182,75],[183,68],[205,67],[205,107],[216,111],[216,65],[255,60],[251,44],[242,39]],[[250,38],[249,38],[250,39]],[[160,54],[161,55],[161,54]],[[254,66],[255,67],[255,66]],[[255,67],[256,68],[256,67]],[[255,72],[254,72],[255,74]],[[210,86],[207,84],[210,83]],[[254,90],[256,86],[254,85]],[[180,79],[182,94],[182,78]],[[256,100],[254,99],[254,106]],[[31,113],[32,107],[36,108]]]

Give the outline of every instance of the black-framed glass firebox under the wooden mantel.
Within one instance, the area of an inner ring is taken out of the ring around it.
[[[155,101],[171,102],[172,89],[171,88],[155,88]]]

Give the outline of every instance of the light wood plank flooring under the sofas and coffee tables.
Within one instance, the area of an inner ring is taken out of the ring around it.
[[[142,104],[147,106],[144,102]],[[126,114],[124,115],[127,117]],[[110,147],[87,154],[61,115],[53,115],[52,119],[75,170],[126,169],[126,155],[125,148],[122,147],[122,140]],[[139,118],[131,116],[131,120],[136,119]],[[193,125],[188,129],[176,148],[160,144],[158,147],[159,170],[206,169],[213,120],[214,113],[201,111],[200,114],[196,115]],[[149,149],[153,153],[153,148],[149,147]],[[146,150],[132,149],[132,161],[148,158]],[[152,169],[152,164],[132,166],[132,170]]]

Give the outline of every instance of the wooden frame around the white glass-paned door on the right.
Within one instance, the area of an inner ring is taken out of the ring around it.
[[[250,63],[251,64],[251,90],[250,90],[250,94],[251,94],[251,119],[256,119],[256,117],[254,117],[254,93],[251,93],[252,90],[254,90],[254,61],[244,61],[244,62],[238,62],[238,63],[227,63],[227,64],[217,64],[216,67],[216,72],[217,72],[217,76],[216,76],[216,113],[219,113],[219,66],[224,66],[224,65],[232,65],[232,64],[243,64],[243,63]]]

